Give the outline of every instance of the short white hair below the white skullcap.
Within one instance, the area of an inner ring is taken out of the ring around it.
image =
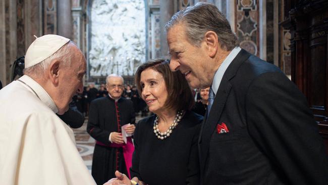
[[[28,67],[24,69],[24,74],[28,74],[32,77],[41,77],[45,69],[48,68],[51,61],[59,60],[62,64],[70,65],[72,56],[74,55],[70,48],[75,45],[73,41],[67,42],[61,49],[59,49],[56,53],[52,54],[50,57],[44,59],[42,62],[35,64],[34,66]]]

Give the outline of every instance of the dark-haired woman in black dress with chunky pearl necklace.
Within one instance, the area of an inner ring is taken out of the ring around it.
[[[197,141],[203,117],[190,111],[194,100],[184,75],[171,72],[168,62],[155,60],[138,68],[135,82],[154,115],[136,125],[132,180],[117,171],[121,180],[108,182],[199,184]]]

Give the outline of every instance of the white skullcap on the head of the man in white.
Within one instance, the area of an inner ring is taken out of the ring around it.
[[[27,49],[25,55],[25,69],[50,57],[69,41],[70,39],[63,36],[50,34],[36,38]]]

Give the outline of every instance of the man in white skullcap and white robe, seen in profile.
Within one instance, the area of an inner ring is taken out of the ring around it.
[[[0,90],[0,184],[95,184],[57,115],[83,91],[86,61],[68,38],[36,38],[24,76]]]

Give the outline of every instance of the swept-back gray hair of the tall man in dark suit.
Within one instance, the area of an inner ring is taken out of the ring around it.
[[[197,47],[200,47],[207,31],[214,31],[217,34],[221,48],[226,51],[239,46],[238,38],[232,32],[226,17],[209,3],[197,3],[175,13],[165,25],[166,31],[168,32],[176,24],[185,26],[188,41]]]

